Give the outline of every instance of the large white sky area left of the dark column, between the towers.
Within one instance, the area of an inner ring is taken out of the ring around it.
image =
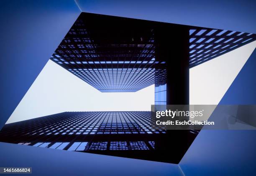
[[[49,60],[7,123],[65,111],[151,111],[154,85],[134,93],[101,93]]]

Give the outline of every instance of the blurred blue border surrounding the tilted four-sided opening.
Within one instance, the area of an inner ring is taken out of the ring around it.
[[[256,33],[252,0],[3,0],[0,8],[0,128],[81,11]],[[256,104],[255,68],[256,50],[220,104]],[[249,175],[256,171],[255,136],[201,131],[179,165],[0,143],[0,166],[32,167],[35,175]]]

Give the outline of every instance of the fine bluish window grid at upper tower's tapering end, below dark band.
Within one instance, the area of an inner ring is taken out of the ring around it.
[[[154,84],[154,68],[69,69],[101,92],[136,92]]]

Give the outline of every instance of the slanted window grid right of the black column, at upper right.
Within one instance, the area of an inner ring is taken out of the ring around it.
[[[256,40],[252,33],[209,28],[191,29],[189,35],[190,68]]]

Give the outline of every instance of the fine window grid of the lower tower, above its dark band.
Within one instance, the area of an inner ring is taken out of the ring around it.
[[[166,133],[151,127],[150,111],[64,112],[6,124],[3,136],[70,136]]]

